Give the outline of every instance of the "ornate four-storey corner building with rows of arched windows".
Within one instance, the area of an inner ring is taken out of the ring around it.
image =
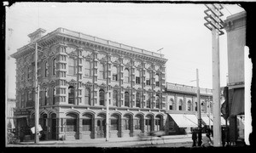
[[[44,139],[106,137],[106,103],[110,138],[164,130],[167,59],[162,54],[64,28],[43,33],[38,29],[28,35],[31,42],[12,54],[17,66],[17,127],[34,127],[33,44],[38,42]]]

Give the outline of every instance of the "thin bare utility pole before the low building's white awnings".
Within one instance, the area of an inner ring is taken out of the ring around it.
[[[198,146],[201,146],[201,99],[199,88],[198,69],[196,69],[196,93],[197,93],[197,119],[198,119]]]

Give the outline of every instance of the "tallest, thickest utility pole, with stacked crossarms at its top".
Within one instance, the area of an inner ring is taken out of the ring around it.
[[[219,35],[223,35],[224,21],[220,19],[222,14],[220,4],[206,4],[207,23],[204,25],[212,31],[212,102],[213,102],[213,146],[221,146],[220,124],[220,84],[219,84]]]

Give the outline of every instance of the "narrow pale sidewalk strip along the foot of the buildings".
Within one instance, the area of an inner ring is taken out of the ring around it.
[[[163,139],[181,139],[183,138],[191,138],[191,134],[186,135],[165,135],[162,137]],[[131,142],[138,141],[139,139],[136,137],[127,137],[127,138],[109,138],[108,143],[119,143],[119,142]],[[145,140],[147,141],[147,140]],[[192,139],[191,139],[192,141]],[[106,138],[101,139],[74,139],[74,140],[40,140],[38,144],[98,144],[98,143],[106,143]],[[20,142],[19,144],[35,144],[34,141],[30,142]]]

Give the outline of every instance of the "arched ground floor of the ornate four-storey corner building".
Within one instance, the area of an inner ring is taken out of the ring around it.
[[[33,139],[34,113],[16,118],[21,139]],[[140,133],[165,131],[166,114],[161,111],[109,111],[109,137],[134,137]],[[40,139],[72,140],[106,138],[106,111],[59,108],[40,109]]]

